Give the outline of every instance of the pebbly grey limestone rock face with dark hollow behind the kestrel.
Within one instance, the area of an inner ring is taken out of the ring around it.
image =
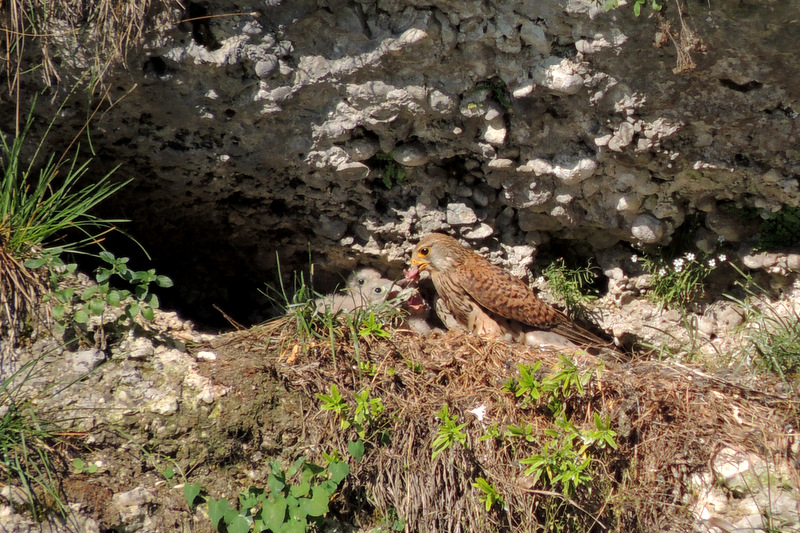
[[[685,9],[681,34],[672,4],[214,2],[111,73],[92,146],[134,182],[107,214],[195,310],[234,316],[309,248],[324,277],[357,257],[399,274],[430,231],[664,244],[697,212],[728,235],[737,209],[800,204],[796,8]]]

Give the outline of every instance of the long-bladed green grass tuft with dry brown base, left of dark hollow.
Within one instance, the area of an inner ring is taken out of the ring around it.
[[[95,217],[92,209],[128,183],[111,183],[113,170],[95,183],[85,183],[90,161],[79,162],[77,150],[67,161],[66,153],[60,159],[55,154],[42,155],[54,121],[32,151],[28,150],[34,107],[35,100],[25,124],[10,142],[0,135],[0,302],[4,302],[0,333],[8,336],[5,349],[16,344],[23,330],[35,329],[46,320],[38,307],[47,292],[46,283],[24,261],[39,257],[56,241],[67,251],[98,242],[122,220]]]

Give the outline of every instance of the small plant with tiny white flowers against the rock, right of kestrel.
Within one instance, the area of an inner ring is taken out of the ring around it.
[[[632,263],[641,263],[653,274],[649,292],[651,299],[668,306],[682,307],[703,294],[703,283],[719,264],[727,261],[725,254],[698,259],[688,252],[671,261],[653,260],[647,256],[631,256]]]

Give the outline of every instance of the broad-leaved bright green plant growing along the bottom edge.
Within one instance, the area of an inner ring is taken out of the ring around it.
[[[278,461],[270,463],[267,478],[269,490],[251,487],[239,495],[238,509],[227,499],[208,498],[208,514],[217,531],[245,533],[305,533],[311,527],[321,527],[328,513],[328,504],[339,484],[350,473],[342,461],[317,466],[301,457],[287,471]],[[299,474],[297,484],[292,478]],[[189,505],[200,494],[197,485],[184,490]]]

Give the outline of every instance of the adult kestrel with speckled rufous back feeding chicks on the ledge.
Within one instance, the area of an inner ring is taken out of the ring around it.
[[[521,279],[452,237],[432,233],[423,238],[414,248],[411,265],[406,277],[430,272],[439,295],[437,314],[448,329],[526,344],[552,338],[539,335],[542,332],[553,333],[566,344],[608,344],[544,302]]]

